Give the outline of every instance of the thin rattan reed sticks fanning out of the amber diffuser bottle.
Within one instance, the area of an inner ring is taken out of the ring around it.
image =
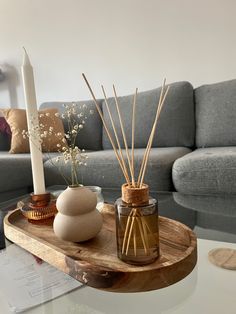
[[[122,172],[124,174],[126,182],[130,186],[130,179],[129,179],[128,170],[127,170],[127,167],[126,167],[124,156],[122,154],[122,149],[121,149],[119,138],[118,138],[117,131],[116,131],[116,128],[115,128],[114,120],[113,120],[111,112],[110,112],[110,108],[109,108],[109,105],[108,105],[108,101],[107,101],[105,90],[104,90],[104,88],[102,86],[102,91],[103,91],[103,94],[104,94],[105,104],[106,104],[107,111],[108,111],[108,114],[109,114],[109,117],[110,117],[110,120],[111,120],[112,128],[113,128],[113,131],[114,131],[114,134],[115,134],[115,138],[116,138],[116,142],[117,142],[117,146],[118,146],[120,155],[119,155],[119,153],[118,153],[118,151],[116,149],[116,146],[115,146],[115,144],[113,142],[112,136],[111,136],[111,134],[109,132],[109,129],[108,129],[107,125],[106,125],[106,122],[105,122],[105,120],[103,118],[102,111],[101,111],[101,109],[100,109],[100,107],[98,105],[98,102],[97,102],[96,97],[95,97],[95,95],[94,95],[94,93],[92,91],[92,88],[91,88],[91,86],[90,86],[86,76],[84,75],[84,73],[82,74],[82,76],[83,76],[83,78],[85,80],[85,83],[87,84],[87,86],[89,88],[89,91],[90,91],[90,93],[92,95],[92,98],[94,100],[95,106],[96,106],[97,111],[98,111],[98,113],[100,115],[100,118],[101,118],[101,120],[103,122],[105,131],[106,131],[107,136],[108,136],[108,138],[109,138],[109,140],[111,142],[112,148],[113,148],[113,150],[115,152],[116,158],[117,158],[117,160],[119,162],[119,165],[120,165],[121,170],[122,170]],[[153,142],[153,138],[154,138],[157,122],[158,122],[158,119],[160,117],[160,113],[161,113],[163,104],[165,102],[167,93],[169,91],[169,86],[167,87],[165,93],[164,93],[164,89],[165,89],[165,80],[164,80],[163,85],[162,85],[162,89],[161,89],[161,94],[160,94],[160,97],[159,97],[159,103],[158,103],[158,107],[157,107],[155,120],[154,120],[152,129],[151,129],[151,133],[150,133],[150,136],[149,136],[147,147],[146,147],[146,150],[145,150],[145,153],[144,153],[144,156],[143,156],[143,160],[142,160],[142,164],[141,164],[141,168],[140,168],[140,172],[139,172],[139,177],[138,177],[138,181],[137,181],[137,188],[142,188],[142,185],[143,185],[143,179],[144,179],[146,168],[147,168],[147,162],[148,162],[150,150],[151,150],[151,147],[152,147],[152,142]],[[135,188],[136,187],[136,182],[135,182],[135,178],[134,178],[134,136],[135,136],[135,109],[136,109],[136,100],[137,100],[138,89],[136,88],[135,95],[134,95],[134,100],[133,100],[132,147],[131,147],[131,152],[132,152],[131,158],[132,159],[131,160],[130,160],[130,156],[129,156],[129,150],[128,150],[128,145],[127,145],[125,131],[124,131],[123,121],[122,121],[122,117],[121,117],[121,114],[120,114],[118,97],[117,97],[116,89],[115,89],[114,85],[113,85],[113,91],[114,91],[114,95],[115,95],[116,109],[117,109],[117,113],[118,113],[118,117],[119,117],[119,122],[120,122],[121,132],[122,132],[122,136],[123,136],[123,141],[124,141],[124,144],[125,144],[125,150],[126,150],[126,155],[127,155],[127,160],[128,160],[129,171],[130,171],[130,174],[131,174],[132,187]],[[163,93],[164,93],[164,96],[163,96]],[[139,233],[140,233],[140,236],[141,236],[141,239],[142,239],[142,243],[143,243],[143,247],[144,247],[144,250],[145,250],[145,254],[146,255],[149,254],[150,247],[149,247],[148,231],[150,232],[150,234],[152,234],[152,232],[150,230],[150,227],[148,226],[148,223],[145,220],[145,217],[143,217],[143,215],[140,213],[140,210],[138,208],[133,208],[131,210],[128,218],[127,218],[125,232],[124,232],[124,238],[123,238],[123,244],[122,244],[122,254],[125,253],[126,255],[128,255],[128,251],[129,251],[129,247],[130,247],[130,241],[131,241],[131,237],[132,237],[132,234],[133,234],[134,255],[136,256],[136,254],[137,254],[137,229],[139,230]],[[153,235],[153,238],[155,239],[154,235]]]

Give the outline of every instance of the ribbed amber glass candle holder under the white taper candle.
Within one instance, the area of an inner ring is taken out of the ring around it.
[[[51,193],[30,194],[18,203],[22,214],[32,223],[43,223],[57,214],[56,198]]]

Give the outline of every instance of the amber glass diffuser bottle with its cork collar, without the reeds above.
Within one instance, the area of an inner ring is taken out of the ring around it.
[[[124,184],[115,207],[118,257],[134,265],[154,262],[159,257],[158,207],[149,197],[148,186]]]

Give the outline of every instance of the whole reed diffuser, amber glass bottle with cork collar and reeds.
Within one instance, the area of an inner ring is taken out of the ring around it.
[[[135,178],[134,138],[136,100],[138,92],[137,88],[135,90],[132,104],[132,142],[130,152],[127,145],[126,134],[123,126],[123,120],[120,112],[116,89],[113,85],[116,110],[125,147],[125,153],[123,153],[104,87],[102,86],[102,92],[104,95],[104,101],[109,114],[115,139],[113,139],[111,136],[111,132],[107,127],[106,121],[103,118],[102,111],[98,105],[97,99],[86,76],[84,74],[82,75],[92,95],[97,111],[103,122],[104,129],[111,142],[112,148],[125,178],[125,183],[122,185],[122,196],[115,203],[118,257],[126,263],[135,265],[145,265],[152,263],[159,257],[158,206],[157,201],[149,196],[149,187],[147,184],[144,183],[144,178],[153,138],[161,114],[161,110],[169,91],[169,86],[166,87],[164,80],[157,105],[154,123],[151,128],[146,149],[144,151],[139,174],[138,177]],[[124,158],[124,154],[126,155],[126,159]]]

